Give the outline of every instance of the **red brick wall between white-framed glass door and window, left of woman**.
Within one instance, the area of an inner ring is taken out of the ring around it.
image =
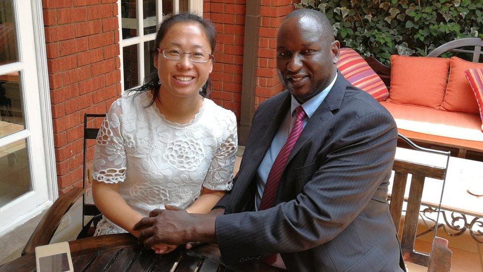
[[[117,0],[42,0],[59,193],[82,186],[83,116],[120,96]],[[93,148],[88,154],[92,158]]]

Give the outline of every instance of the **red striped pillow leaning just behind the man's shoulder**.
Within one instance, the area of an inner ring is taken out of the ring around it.
[[[382,79],[362,56],[350,48],[341,48],[337,68],[350,84],[372,95],[376,100],[389,98],[389,91]]]

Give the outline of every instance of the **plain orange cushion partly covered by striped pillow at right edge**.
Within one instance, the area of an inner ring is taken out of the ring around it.
[[[465,69],[483,68],[483,63],[463,60],[453,56],[449,65],[448,86],[441,109],[478,114],[478,104],[470,84],[465,76]]]

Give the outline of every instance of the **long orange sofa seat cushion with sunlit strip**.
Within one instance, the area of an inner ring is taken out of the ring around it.
[[[399,133],[410,139],[483,152],[479,114],[380,103],[396,120]]]

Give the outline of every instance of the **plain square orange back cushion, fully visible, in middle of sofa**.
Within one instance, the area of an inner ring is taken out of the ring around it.
[[[439,109],[449,58],[391,55],[389,101]]]

